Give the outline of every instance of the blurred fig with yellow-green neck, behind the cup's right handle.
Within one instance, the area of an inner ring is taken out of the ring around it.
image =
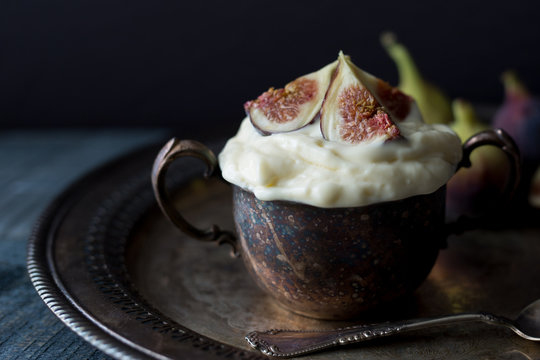
[[[482,123],[473,106],[462,99],[452,103],[452,129],[464,142],[480,131],[489,129]],[[471,154],[470,168],[462,168],[447,184],[446,209],[450,218],[460,215],[478,216],[502,205],[502,193],[508,174],[504,153],[494,146],[483,146]]]

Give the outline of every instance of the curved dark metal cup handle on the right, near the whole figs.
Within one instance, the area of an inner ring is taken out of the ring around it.
[[[504,201],[508,202],[512,199],[519,185],[521,177],[521,161],[519,149],[514,140],[506,131],[502,129],[490,129],[481,131],[471,136],[463,143],[463,157],[459,162],[456,171],[462,167],[471,167],[471,153],[474,149],[484,145],[493,145],[498,147],[506,154],[508,158],[510,171],[508,173],[505,189],[502,193]],[[487,222],[489,220],[490,219],[487,217],[484,217],[483,219],[476,219],[468,216],[461,216],[455,222],[446,225],[447,234],[461,234],[467,230],[477,228],[483,223],[483,221]]]

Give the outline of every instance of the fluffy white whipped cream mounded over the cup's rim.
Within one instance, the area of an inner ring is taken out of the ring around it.
[[[399,200],[446,184],[462,156],[459,137],[424,123],[416,107],[397,125],[405,140],[347,144],[324,140],[319,121],[262,136],[246,118],[219,163],[227,181],[261,200],[324,208]]]

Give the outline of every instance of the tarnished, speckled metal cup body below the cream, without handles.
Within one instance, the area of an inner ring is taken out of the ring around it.
[[[233,189],[247,269],[284,307],[350,319],[410,294],[445,243],[445,187],[352,208],[262,201]]]

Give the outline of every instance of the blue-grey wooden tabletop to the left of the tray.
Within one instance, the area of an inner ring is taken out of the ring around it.
[[[0,133],[0,359],[109,359],[38,296],[26,271],[27,241],[41,212],[70,183],[166,134],[159,129]]]

